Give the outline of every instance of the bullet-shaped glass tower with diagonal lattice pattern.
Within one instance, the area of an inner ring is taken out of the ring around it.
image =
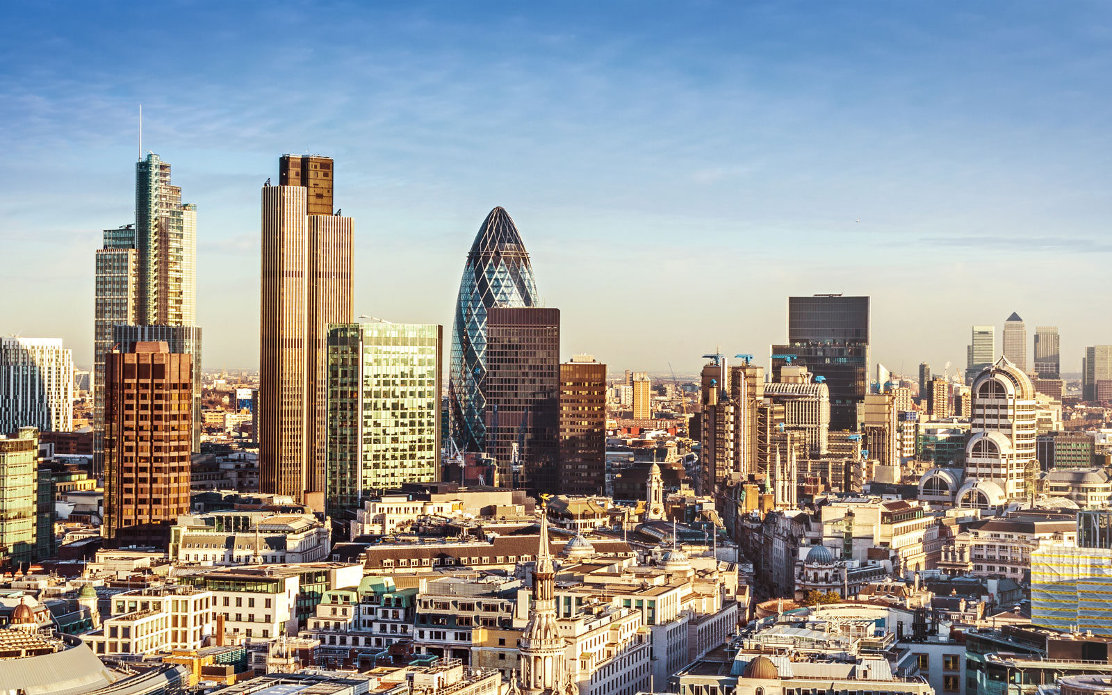
[[[467,252],[451,327],[450,436],[460,451],[486,450],[487,310],[539,305],[533,266],[509,214],[490,210]]]

